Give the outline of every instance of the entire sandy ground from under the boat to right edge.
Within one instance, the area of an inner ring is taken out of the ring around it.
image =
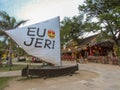
[[[120,66],[88,63],[79,64],[72,76],[47,78],[17,77],[5,90],[120,90]]]

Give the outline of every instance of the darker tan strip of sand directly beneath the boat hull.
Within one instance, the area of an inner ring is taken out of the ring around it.
[[[80,70],[72,76],[52,77],[46,80],[43,78],[26,79],[26,77],[17,77],[9,82],[9,86],[5,90],[66,90],[69,85],[74,85],[75,82],[82,82],[82,80],[88,80],[98,76],[95,72]]]

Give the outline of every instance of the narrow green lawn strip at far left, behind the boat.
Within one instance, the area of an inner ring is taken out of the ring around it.
[[[15,71],[15,70],[22,70],[23,68],[25,68],[26,65],[13,65],[13,66],[5,66],[5,65],[2,65],[0,66],[0,72],[5,72],[5,71]]]

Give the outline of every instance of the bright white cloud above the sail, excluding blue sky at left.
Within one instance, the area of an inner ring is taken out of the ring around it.
[[[35,0],[19,8],[17,16],[28,19],[29,23],[47,20],[56,16],[63,19],[65,16],[77,15],[81,0]]]

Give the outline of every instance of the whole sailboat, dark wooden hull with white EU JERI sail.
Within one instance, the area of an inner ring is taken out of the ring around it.
[[[6,33],[29,55],[54,65],[37,69],[27,66],[22,70],[22,76],[51,77],[72,74],[78,70],[78,65],[62,66],[59,17],[26,27],[7,30]]]

